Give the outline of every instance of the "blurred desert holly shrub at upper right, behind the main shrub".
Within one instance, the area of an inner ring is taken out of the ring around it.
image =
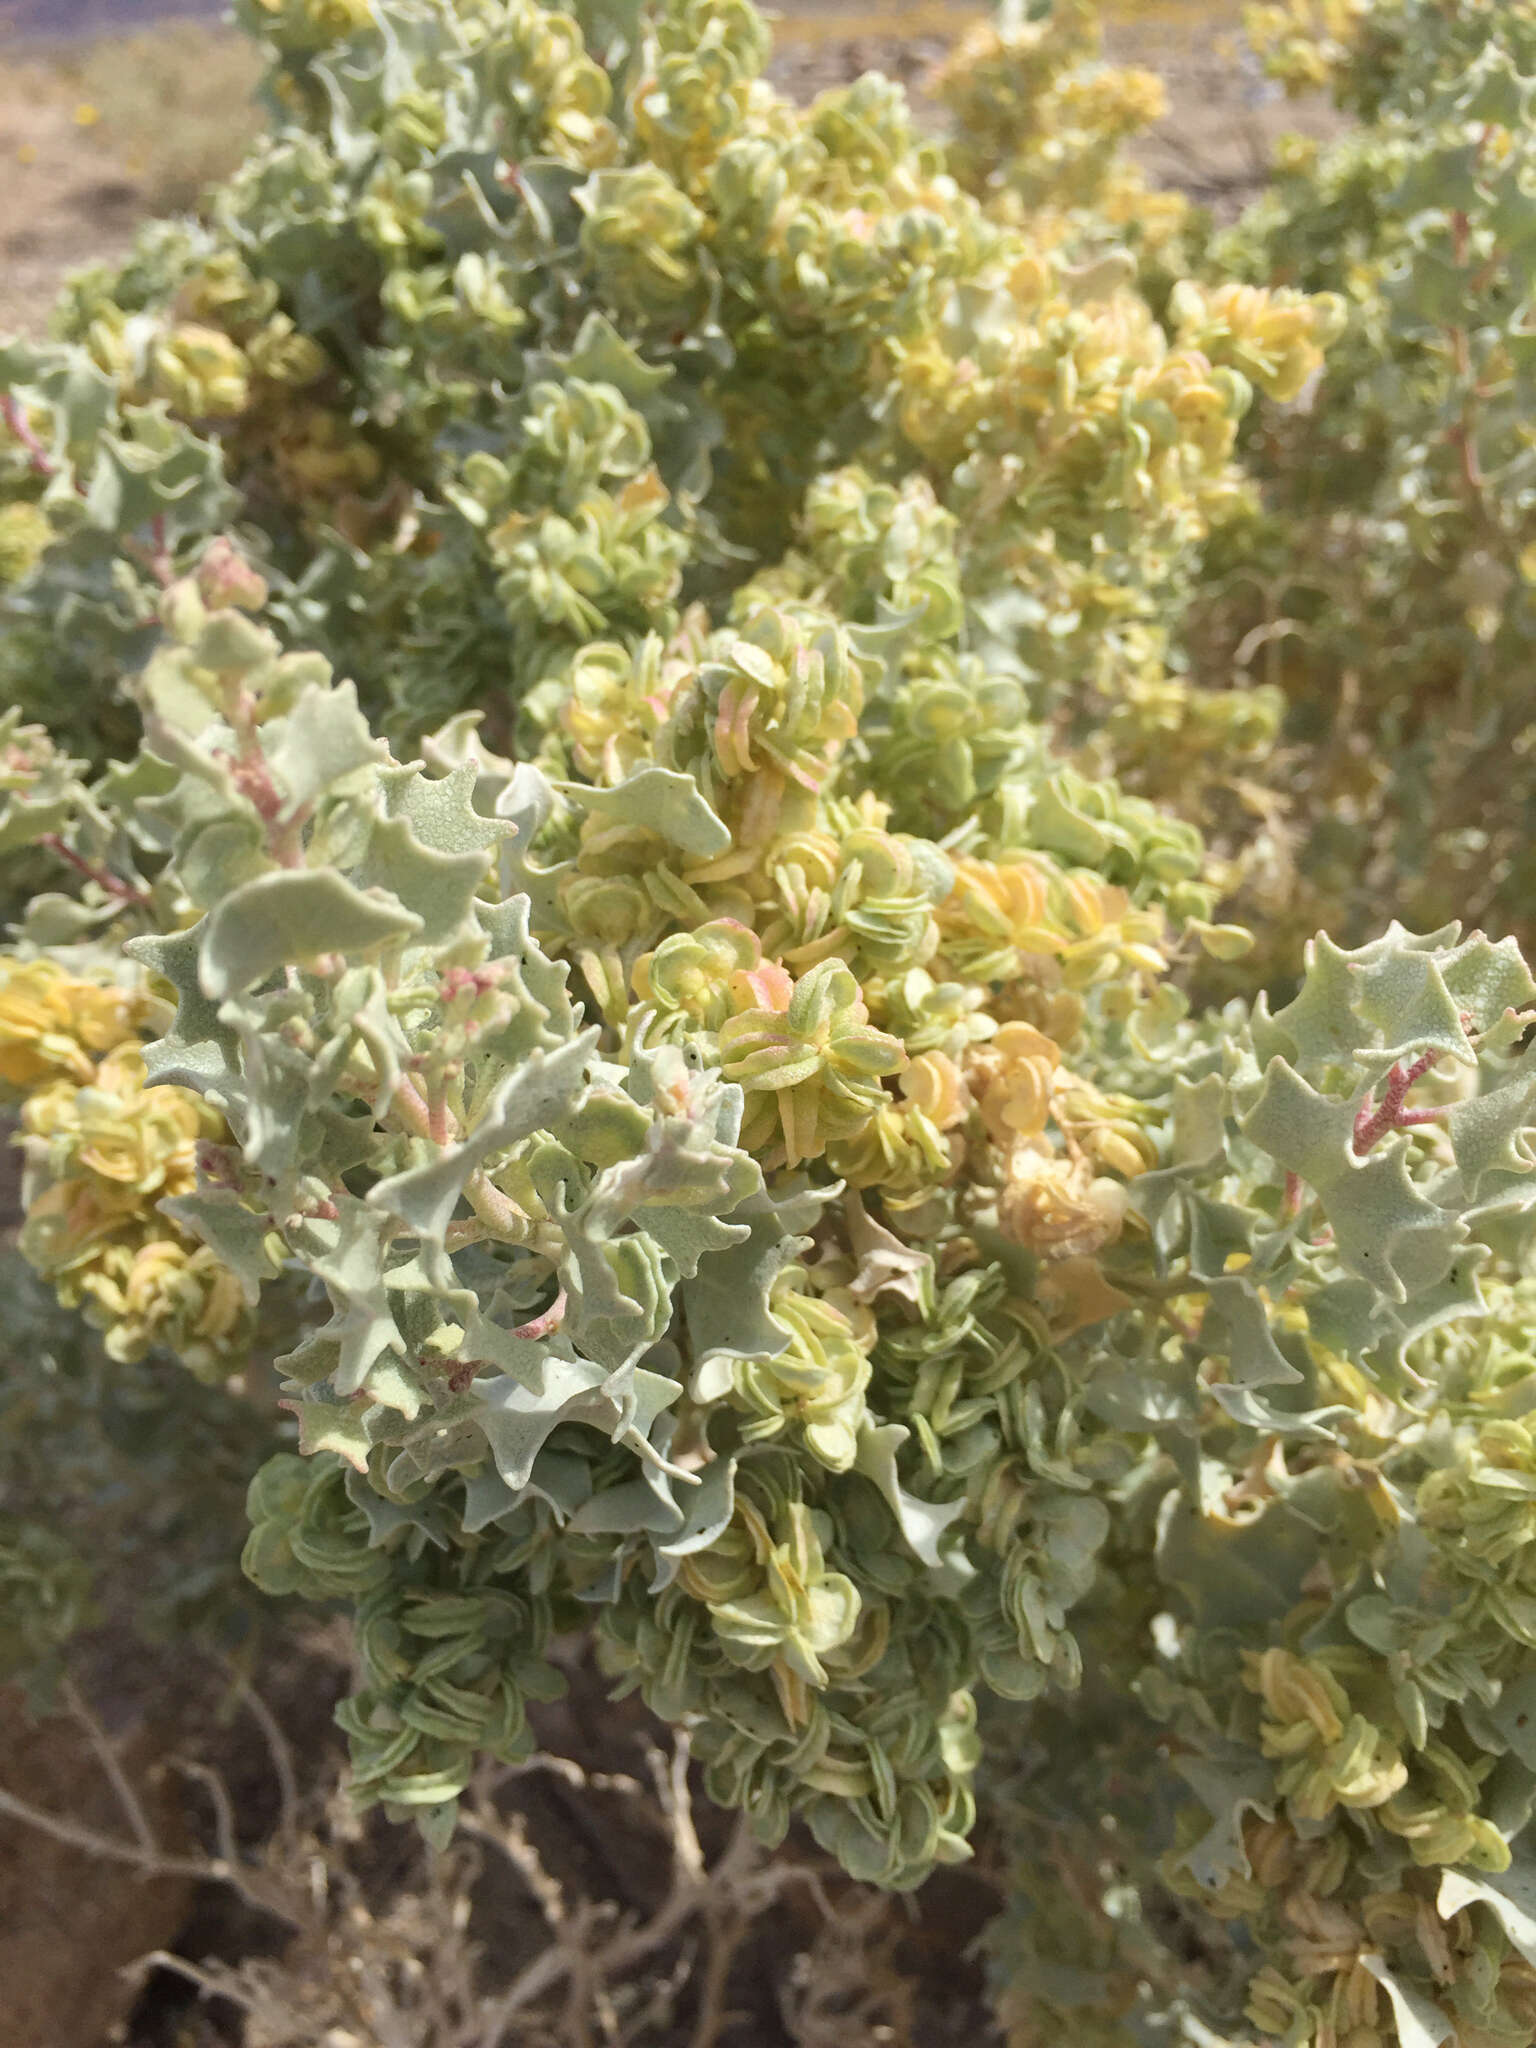
[[[1253,14],[1274,70],[1360,117],[1290,143],[1210,248],[1223,279],[1350,305],[1305,403],[1255,422],[1262,506],[1200,584],[1202,662],[1288,698],[1300,874],[1276,930],[1364,936],[1391,899],[1530,942],[1536,10]]]

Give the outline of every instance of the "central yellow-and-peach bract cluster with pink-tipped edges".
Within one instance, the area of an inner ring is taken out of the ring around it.
[[[774,768],[764,776],[778,786]],[[1157,1145],[1145,1112],[1081,1081],[1061,1047],[1079,1028],[1079,991],[1161,975],[1161,913],[1044,854],[944,860],[866,823],[868,805],[846,809],[842,840],[784,834],[723,885],[682,870],[680,887],[717,907],[733,891],[737,915],[635,958],[647,1030],[717,1040],[721,1071],[745,1090],[743,1143],[762,1157],[825,1157],[901,1210],[956,1184],[977,1147],[971,1178],[997,1190],[1008,1235],[1053,1262],[1100,1251]],[[838,823],[840,807],[823,815]],[[938,862],[932,874],[920,854]],[[588,926],[606,911],[618,950],[655,915],[641,881],[614,874],[578,872],[561,901]],[[582,961],[588,979],[612,979]]]

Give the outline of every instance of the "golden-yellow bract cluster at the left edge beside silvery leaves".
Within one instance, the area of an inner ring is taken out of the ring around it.
[[[20,1247],[104,1331],[113,1358],[168,1346],[199,1374],[229,1372],[250,1335],[240,1282],[160,1214],[197,1186],[199,1141],[223,1118],[184,1087],[145,1083],[152,1004],[57,963],[0,961],[0,1081],[20,1100]]]

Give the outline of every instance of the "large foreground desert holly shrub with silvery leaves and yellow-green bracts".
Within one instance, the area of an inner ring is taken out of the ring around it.
[[[1536,981],[1186,993],[1341,297],[1171,279],[1081,8],[952,160],[731,0],[256,12],[268,141],[0,354],[0,1077],[104,1382],[274,1360],[356,1798],[582,1630],[766,1841],[981,1792],[1018,2042],[1528,2038]]]

